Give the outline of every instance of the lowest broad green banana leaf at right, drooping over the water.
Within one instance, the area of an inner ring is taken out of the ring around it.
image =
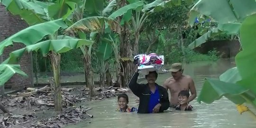
[[[200,95],[197,101],[205,103],[212,103],[225,96],[235,104],[242,104],[246,100],[254,101],[255,93],[249,91],[236,83],[222,82],[217,79],[205,79]]]

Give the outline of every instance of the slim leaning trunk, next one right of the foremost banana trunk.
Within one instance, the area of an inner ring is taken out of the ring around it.
[[[88,53],[87,46],[85,46],[85,75],[86,75],[86,81],[88,82],[89,88],[90,88],[90,95],[91,97],[95,96],[95,89],[94,89],[94,81],[93,81],[93,72],[91,69],[91,56]]]

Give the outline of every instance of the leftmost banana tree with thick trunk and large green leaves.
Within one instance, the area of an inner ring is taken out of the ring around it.
[[[60,23],[55,24],[55,26],[60,26],[62,28],[66,28],[66,24],[63,22],[63,20],[66,20],[67,18],[69,18],[71,16],[71,14],[73,14],[73,11],[75,9],[76,6],[79,6],[80,2],[78,0],[55,0],[54,2],[40,2],[37,0],[3,0],[2,3],[7,6],[7,9],[13,14],[13,15],[19,15],[22,18],[24,18],[27,23],[29,25],[41,25],[41,29],[31,29],[31,27],[28,27],[27,29],[30,29],[30,37],[23,37],[22,35],[26,35],[27,33],[17,33],[15,34],[13,41],[14,42],[20,42],[20,43],[24,43],[26,46],[30,46],[33,44],[36,44],[39,40],[41,40],[43,37],[45,37],[47,35],[48,42],[58,42],[59,46],[62,46],[62,39],[60,40],[56,40],[59,34],[59,27],[57,30],[56,27],[54,27],[55,31],[50,31],[48,32],[48,29],[51,29],[52,26],[48,26],[50,25],[49,23],[51,23],[52,21],[55,21],[56,19],[62,18],[60,20],[58,20]],[[37,6],[34,6],[35,4],[37,4]],[[33,18],[28,18],[27,14],[31,14],[34,17]],[[48,22],[46,22],[48,21]],[[44,23],[45,24],[42,24]],[[41,23],[41,24],[38,24]],[[43,29],[43,30],[42,30]],[[43,32],[46,31],[48,33],[43,33],[41,34],[41,32],[38,32],[37,30],[42,30]],[[37,32],[37,33],[36,33]],[[28,34],[29,35],[29,34]],[[65,37],[65,35],[63,36]],[[35,39],[36,38],[36,39]],[[30,41],[27,42],[26,40]],[[77,46],[76,43],[79,43],[78,40],[73,40],[73,39],[68,39],[70,40],[70,46],[73,46],[72,48],[74,48],[74,46]],[[65,40],[66,42],[68,42],[68,40]],[[73,41],[72,41],[73,40]],[[7,41],[9,41],[9,38],[7,39]],[[89,40],[88,40],[89,41]],[[9,44],[5,44],[6,42],[4,41],[3,44],[1,43],[1,45],[3,46],[8,46],[11,45],[12,43]],[[79,45],[82,46],[82,45]],[[66,48],[66,46],[64,46],[64,49]],[[2,52],[2,51],[0,51]],[[51,59],[51,63],[52,63],[52,68],[54,71],[54,97],[55,97],[55,110],[56,111],[60,111],[62,110],[62,97],[61,97],[61,91],[60,91],[60,77],[59,77],[59,65],[60,65],[60,54],[55,52],[53,49],[51,49],[50,51],[50,59]]]

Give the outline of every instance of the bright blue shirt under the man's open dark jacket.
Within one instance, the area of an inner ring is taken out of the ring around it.
[[[149,102],[148,102],[148,112],[153,113],[153,109],[155,105],[160,103],[160,95],[158,91],[158,87],[155,86],[155,93],[151,92]]]

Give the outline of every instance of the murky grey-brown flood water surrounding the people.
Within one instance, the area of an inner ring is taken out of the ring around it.
[[[199,95],[204,78],[218,78],[221,73],[235,66],[232,62],[234,60],[228,59],[184,64],[184,74],[192,76]],[[157,83],[162,85],[170,76],[171,73],[159,74]],[[128,105],[138,107],[135,102],[137,97],[133,93],[128,95]],[[168,109],[157,114],[116,112],[117,98],[91,101],[82,105],[93,108],[89,113],[94,118],[65,128],[256,128],[256,121],[251,115],[247,112],[240,115],[235,104],[224,97],[212,104],[199,104],[196,100],[197,98],[191,102],[193,111]]]

